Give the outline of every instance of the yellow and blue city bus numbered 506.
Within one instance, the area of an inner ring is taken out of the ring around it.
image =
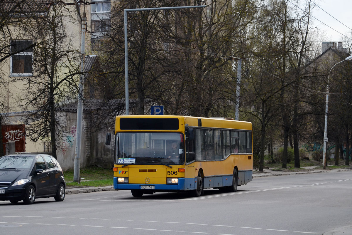
[[[205,188],[236,192],[252,180],[252,123],[232,118],[117,116],[114,189],[132,196]],[[111,134],[106,144],[110,144]],[[176,147],[176,148],[175,148]]]

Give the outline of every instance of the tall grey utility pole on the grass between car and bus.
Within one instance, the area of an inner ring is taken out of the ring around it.
[[[83,17],[81,24],[81,76],[78,84],[78,101],[77,101],[77,133],[76,133],[76,148],[73,181],[81,182],[80,177],[80,155],[81,155],[81,139],[82,139],[82,113],[83,113],[83,79],[84,79],[84,48],[86,42],[86,6],[83,6]]]

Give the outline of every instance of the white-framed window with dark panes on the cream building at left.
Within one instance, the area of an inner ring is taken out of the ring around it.
[[[11,75],[31,76],[33,48],[31,40],[12,41],[11,53],[18,52],[11,56],[10,70]]]

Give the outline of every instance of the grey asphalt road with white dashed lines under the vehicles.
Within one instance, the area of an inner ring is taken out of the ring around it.
[[[63,202],[0,201],[0,234],[322,234],[351,225],[352,171],[254,178],[236,193],[205,190],[67,194]]]

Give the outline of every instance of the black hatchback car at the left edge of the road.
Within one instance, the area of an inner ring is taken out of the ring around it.
[[[65,180],[56,159],[46,154],[0,157],[0,200],[32,204],[36,198],[65,198]]]

